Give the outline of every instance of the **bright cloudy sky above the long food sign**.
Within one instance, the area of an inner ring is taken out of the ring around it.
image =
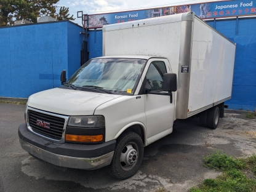
[[[60,0],[58,6],[69,7],[70,15],[76,18],[76,12],[82,10],[83,14],[101,14],[106,12],[120,12],[124,10],[150,9],[153,7],[168,7],[185,4],[196,4],[218,0]],[[80,23],[76,18],[74,23]]]

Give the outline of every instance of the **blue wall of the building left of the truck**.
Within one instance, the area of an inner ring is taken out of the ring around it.
[[[0,97],[60,86],[61,71],[71,76],[80,66],[80,31],[68,21],[0,28]]]

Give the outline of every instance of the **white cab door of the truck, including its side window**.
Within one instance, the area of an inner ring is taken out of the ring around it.
[[[169,95],[160,95],[163,92],[163,76],[165,73],[170,73],[169,62],[165,59],[151,59],[148,63],[150,65],[147,68],[146,81],[151,86],[151,92],[145,95],[145,114],[147,136],[151,138],[148,139],[150,144],[172,132],[175,106],[174,102],[170,103]]]

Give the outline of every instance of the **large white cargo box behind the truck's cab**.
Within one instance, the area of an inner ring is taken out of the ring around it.
[[[231,98],[236,45],[193,12],[103,26],[103,56],[150,55],[177,74],[176,119]]]

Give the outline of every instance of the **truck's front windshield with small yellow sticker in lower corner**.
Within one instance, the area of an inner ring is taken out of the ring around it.
[[[79,68],[68,80],[76,87],[133,94],[146,60],[138,58],[98,58]]]

